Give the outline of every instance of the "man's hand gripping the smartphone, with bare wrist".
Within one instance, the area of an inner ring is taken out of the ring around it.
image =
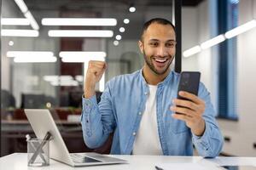
[[[184,91],[179,92],[179,95],[189,100],[173,99],[173,106],[170,109],[175,114],[172,114],[172,117],[186,122],[192,133],[202,136],[206,128],[206,122],[202,117],[206,109],[204,100]]]

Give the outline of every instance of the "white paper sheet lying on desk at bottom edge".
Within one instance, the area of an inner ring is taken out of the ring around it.
[[[155,168],[158,170],[210,170],[219,169],[218,167],[204,167],[197,163],[161,163],[156,164]]]

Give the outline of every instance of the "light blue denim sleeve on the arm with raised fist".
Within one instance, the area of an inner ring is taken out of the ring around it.
[[[115,126],[111,93],[108,85],[102,94],[99,104],[97,104],[96,95],[90,99],[82,97],[82,102],[81,124],[84,143],[89,148],[100,147],[108,139],[109,133],[113,132]]]

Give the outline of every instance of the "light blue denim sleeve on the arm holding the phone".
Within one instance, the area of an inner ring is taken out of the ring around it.
[[[198,96],[206,103],[206,110],[203,114],[206,128],[205,132],[200,137],[193,134],[193,143],[200,156],[215,157],[218,156],[222,150],[224,140],[214,117],[215,112],[210,99],[210,93],[202,83],[200,84]]]

